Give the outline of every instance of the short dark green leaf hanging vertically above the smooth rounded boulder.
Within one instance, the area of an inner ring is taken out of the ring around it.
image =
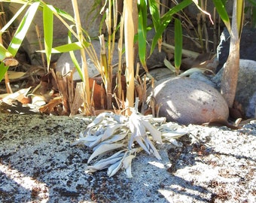
[[[182,57],[182,27],[181,27],[180,20],[175,19],[174,28],[175,28],[174,64],[175,64],[176,73],[178,73],[179,68],[181,67],[181,57]]]

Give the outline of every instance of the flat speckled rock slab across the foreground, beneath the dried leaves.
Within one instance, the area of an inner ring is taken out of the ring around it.
[[[255,202],[256,123],[237,131],[190,125],[123,171],[87,172],[92,153],[72,147],[89,117],[0,114],[0,202]]]

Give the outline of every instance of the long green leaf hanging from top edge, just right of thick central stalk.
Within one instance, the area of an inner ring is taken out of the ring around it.
[[[148,71],[146,64],[146,50],[147,50],[147,1],[140,1],[138,3],[138,44],[139,44],[139,59],[145,71]]]

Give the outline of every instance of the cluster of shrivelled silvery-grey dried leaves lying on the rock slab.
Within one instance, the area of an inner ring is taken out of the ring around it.
[[[173,142],[173,137],[178,138],[189,132],[189,130],[184,129],[178,124],[162,124],[165,122],[163,119],[155,119],[151,116],[145,117],[137,114],[135,111],[132,112],[133,114],[129,118],[118,117],[118,115],[113,113],[99,114],[93,120],[93,123],[87,126],[86,132],[84,134],[81,133],[81,138],[75,144],[84,143],[89,147],[93,147],[93,154],[88,159],[88,163],[96,156],[99,156],[99,161],[89,167],[90,171],[94,172],[108,168],[107,173],[111,177],[123,165],[123,168],[126,169],[127,177],[132,177],[131,162],[139,151],[145,150],[148,154],[153,153],[157,159],[161,159],[157,148],[154,147],[154,143],[151,141],[151,137],[154,141],[160,143],[162,143],[162,136],[164,141]],[[156,129],[151,123],[161,123],[161,126]],[[151,136],[149,136],[148,132],[150,132]],[[84,135],[86,136],[84,137]],[[123,142],[120,143],[120,141]],[[134,141],[140,147],[133,148]],[[106,153],[125,147],[127,142],[129,151],[120,150],[114,153],[114,155],[102,159],[102,156],[105,156]],[[175,142],[173,143],[175,144]],[[126,152],[124,153],[124,151]],[[128,153],[129,156],[127,156]]]

